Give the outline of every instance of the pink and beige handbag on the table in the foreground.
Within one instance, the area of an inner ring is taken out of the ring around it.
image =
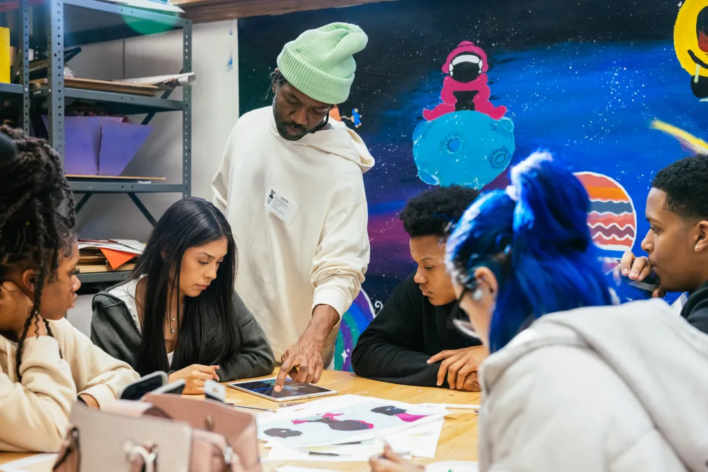
[[[262,472],[255,418],[225,403],[149,393],[70,419],[55,472]]]

